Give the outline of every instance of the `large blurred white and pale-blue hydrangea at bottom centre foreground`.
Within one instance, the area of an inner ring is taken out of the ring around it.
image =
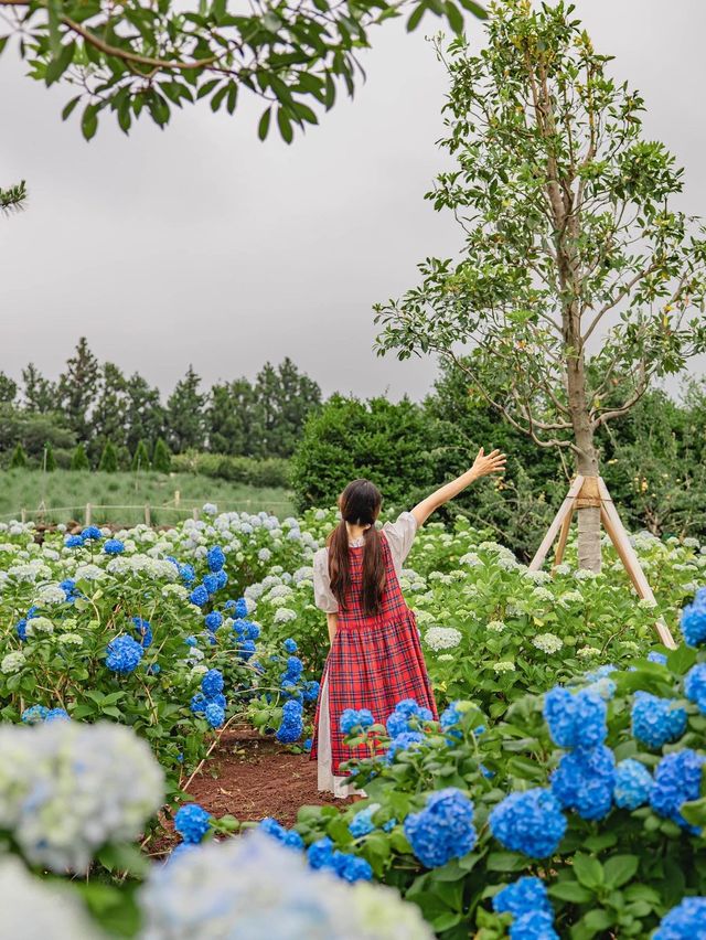
[[[193,937],[432,940],[416,905],[382,885],[313,872],[263,833],[208,843],[156,866],[139,893],[143,940]]]

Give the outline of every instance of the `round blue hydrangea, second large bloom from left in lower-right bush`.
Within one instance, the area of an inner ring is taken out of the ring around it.
[[[552,790],[542,787],[510,793],[491,812],[489,822],[505,848],[531,858],[553,855],[567,825],[561,804]]]

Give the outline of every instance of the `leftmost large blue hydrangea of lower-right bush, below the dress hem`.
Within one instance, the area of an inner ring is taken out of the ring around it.
[[[475,845],[473,803],[454,787],[438,790],[420,812],[407,816],[404,830],[421,864],[438,868],[468,855]]]

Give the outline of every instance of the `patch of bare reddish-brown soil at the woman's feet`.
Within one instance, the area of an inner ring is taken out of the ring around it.
[[[223,735],[189,795],[217,816],[231,813],[242,822],[275,816],[282,825],[296,821],[299,807],[351,802],[317,790],[317,765],[308,754],[292,754],[247,729]]]

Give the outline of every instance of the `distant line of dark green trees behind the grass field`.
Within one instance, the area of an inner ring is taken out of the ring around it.
[[[288,458],[321,389],[290,359],[202,387],[190,365],[172,394],[139,373],[100,363],[82,338],[56,382],[33,363],[21,383],[0,372],[6,466],[169,470],[172,455]]]

